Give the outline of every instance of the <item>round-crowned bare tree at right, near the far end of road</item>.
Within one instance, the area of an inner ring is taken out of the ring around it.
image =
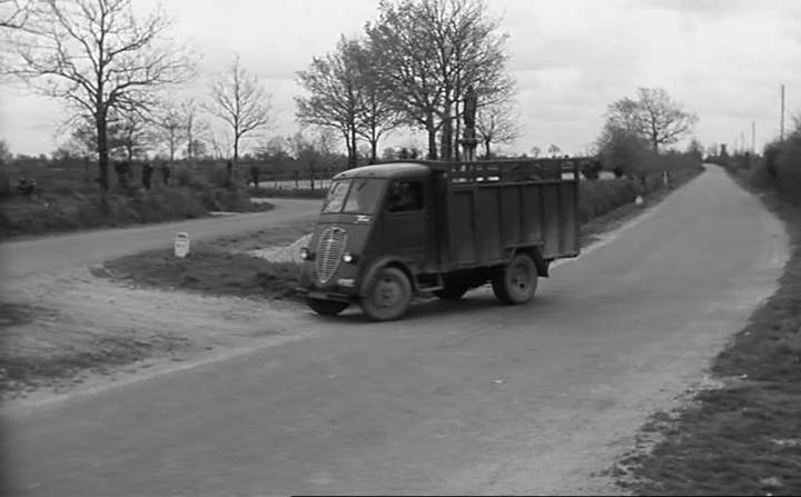
[[[662,88],[639,88],[637,98],[624,98],[609,106],[606,120],[611,126],[634,133],[651,143],[672,145],[692,131],[698,117],[684,111]]]

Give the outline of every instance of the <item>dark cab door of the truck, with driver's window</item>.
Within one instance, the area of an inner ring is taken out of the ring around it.
[[[416,272],[436,270],[436,232],[431,181],[426,178],[394,179],[383,207],[383,246]]]

